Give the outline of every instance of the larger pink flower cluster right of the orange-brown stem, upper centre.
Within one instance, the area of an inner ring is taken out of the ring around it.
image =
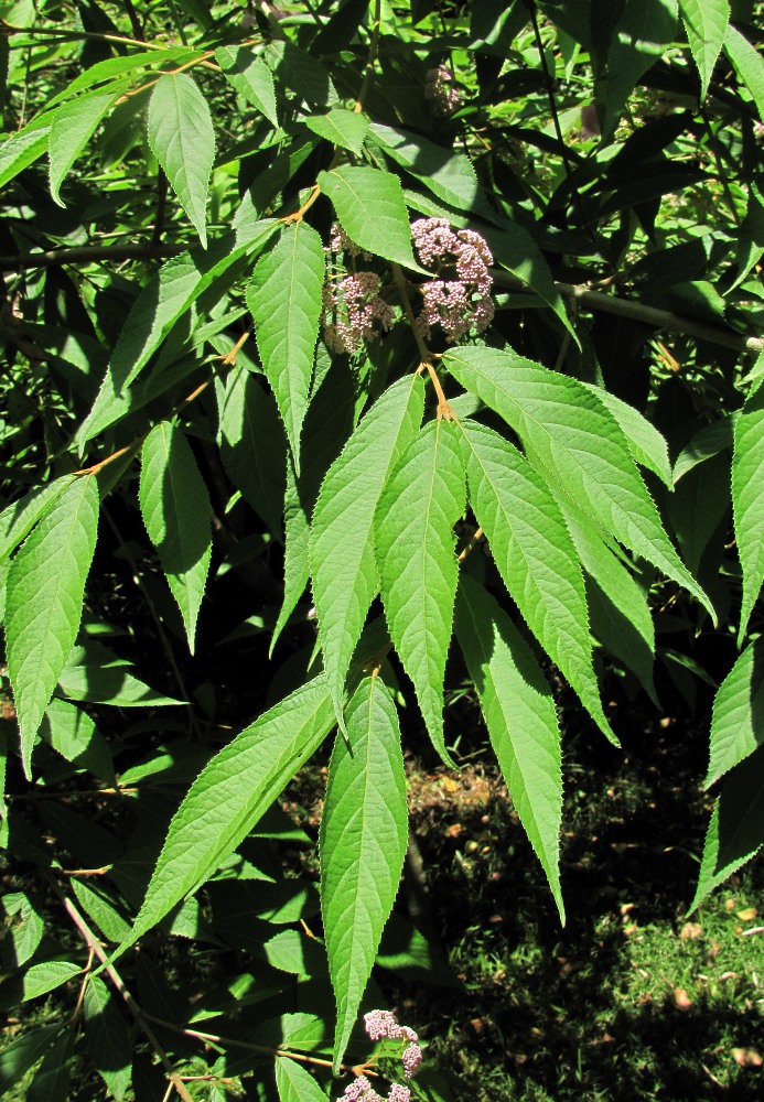
[[[452,344],[471,329],[486,329],[494,316],[488,271],[494,258],[485,240],[473,229],[452,229],[445,218],[419,218],[411,236],[420,262],[437,276],[450,277],[434,279],[422,289],[423,306],[417,318],[422,336],[440,325]]]

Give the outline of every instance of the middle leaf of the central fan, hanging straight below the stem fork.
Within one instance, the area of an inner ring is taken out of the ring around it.
[[[443,742],[443,677],[456,595],[453,526],[464,512],[464,463],[453,424],[430,421],[403,452],[374,521],[390,636],[413,681],[427,730]]]

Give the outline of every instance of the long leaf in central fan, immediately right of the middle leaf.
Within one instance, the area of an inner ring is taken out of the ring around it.
[[[463,424],[470,505],[507,590],[596,725],[614,741],[592,665],[583,575],[562,514],[510,443]]]

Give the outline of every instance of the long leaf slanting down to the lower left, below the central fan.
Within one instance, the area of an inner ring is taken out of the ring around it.
[[[116,955],[195,892],[234,852],[335,722],[322,674],[271,707],[212,758],[170,823],[132,932]]]

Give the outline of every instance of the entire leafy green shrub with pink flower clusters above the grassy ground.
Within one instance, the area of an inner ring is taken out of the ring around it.
[[[758,851],[758,9],[4,6],[0,1093],[478,1096],[397,986],[467,726],[560,922],[613,692],[717,690],[677,905]]]

